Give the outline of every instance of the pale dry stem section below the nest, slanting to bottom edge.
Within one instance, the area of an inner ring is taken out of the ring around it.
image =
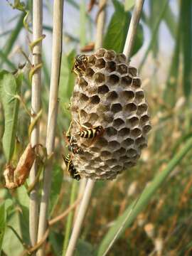
[[[80,229],[82,227],[82,221],[85,218],[85,213],[87,212],[87,207],[90,203],[90,197],[91,197],[91,194],[92,194],[92,189],[94,187],[94,184],[95,184],[95,181],[92,181],[90,179],[87,181],[87,186],[85,188],[85,193],[84,193],[84,196],[83,196],[82,201],[80,203],[80,210],[79,210],[77,218],[75,220],[75,225],[73,227],[73,233],[70,237],[68,250],[67,250],[65,256],[73,255],[76,243],[77,243],[79,235],[80,235]]]

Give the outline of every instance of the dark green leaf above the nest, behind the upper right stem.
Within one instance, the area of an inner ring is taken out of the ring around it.
[[[105,34],[103,47],[106,49],[115,50],[117,53],[122,53],[131,20],[131,14],[129,11],[124,11],[124,6],[119,1],[112,0],[112,2],[114,5],[114,14],[112,15],[107,28],[107,33]],[[142,44],[143,30],[142,26],[139,25],[137,28],[137,35],[135,38],[132,55],[137,53]]]

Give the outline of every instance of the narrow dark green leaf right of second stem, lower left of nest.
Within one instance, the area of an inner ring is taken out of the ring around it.
[[[60,166],[53,166],[53,181],[50,190],[49,214],[53,213],[55,205],[58,203],[60,188],[63,181],[63,170]]]

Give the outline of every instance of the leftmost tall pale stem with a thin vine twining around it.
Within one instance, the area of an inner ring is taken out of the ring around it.
[[[42,36],[43,7],[42,0],[33,2],[33,41]],[[33,65],[41,63],[41,41],[33,48]],[[41,68],[33,74],[31,86],[31,114],[38,114],[41,108]],[[31,122],[35,117],[31,117]],[[35,146],[39,142],[39,122],[33,127],[31,132],[31,145]],[[38,172],[37,161],[34,161],[30,171],[30,181],[33,183]],[[38,228],[38,186],[34,186],[30,193],[29,205],[29,234],[31,245],[36,245]]]

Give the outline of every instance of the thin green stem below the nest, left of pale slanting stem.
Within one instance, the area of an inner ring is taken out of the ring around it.
[[[77,183],[77,181],[74,180],[73,185],[72,185],[71,194],[70,194],[70,206],[72,206],[75,201],[77,188],[78,188],[78,183]],[[71,210],[70,213],[68,214],[68,220],[67,220],[67,224],[66,224],[66,228],[65,228],[65,240],[63,242],[63,256],[65,256],[65,252],[68,248],[68,242],[69,242],[69,238],[70,238],[72,222],[73,222],[73,211]]]

